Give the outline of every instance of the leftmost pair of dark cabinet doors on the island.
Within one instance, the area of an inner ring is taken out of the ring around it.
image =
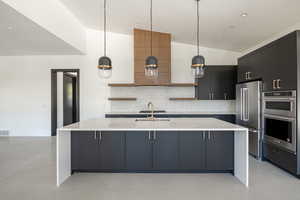
[[[114,171],[125,167],[123,132],[76,132],[71,136],[72,170]]]

